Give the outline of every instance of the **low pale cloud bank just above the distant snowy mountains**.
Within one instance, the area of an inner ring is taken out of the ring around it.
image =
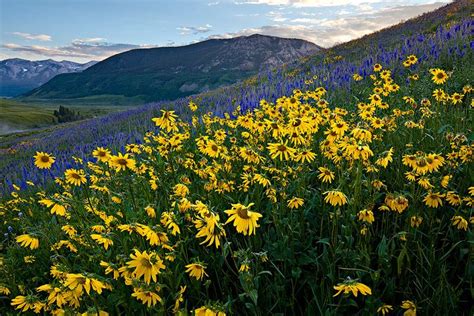
[[[124,43],[107,43],[103,38],[75,39],[67,46],[46,47],[40,45],[19,45],[15,43],[2,44],[2,48],[26,53],[35,57],[61,57],[74,60],[101,60],[112,55],[136,48],[151,48],[155,45],[135,45]]]

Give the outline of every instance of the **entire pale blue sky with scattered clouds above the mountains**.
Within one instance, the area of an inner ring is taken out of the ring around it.
[[[322,47],[446,0],[0,0],[0,59],[103,60],[134,48],[255,33]]]

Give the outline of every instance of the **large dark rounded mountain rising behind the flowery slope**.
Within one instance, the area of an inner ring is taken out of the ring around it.
[[[238,82],[262,68],[290,63],[320,49],[304,40],[258,34],[181,47],[135,49],[81,73],[59,75],[25,96],[68,99],[123,95],[143,101],[174,100]]]

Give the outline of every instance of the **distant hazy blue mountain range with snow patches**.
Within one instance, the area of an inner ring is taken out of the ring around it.
[[[0,96],[14,97],[37,88],[56,75],[79,72],[96,61],[79,64],[52,59],[31,61],[19,58],[0,61]]]

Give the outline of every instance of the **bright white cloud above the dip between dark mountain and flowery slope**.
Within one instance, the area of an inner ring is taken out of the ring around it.
[[[258,0],[258,2],[300,3],[304,1]],[[327,1],[324,2],[327,3]],[[212,35],[209,38],[230,38],[259,33],[287,38],[300,38],[323,47],[331,47],[335,44],[347,42],[397,24],[402,20],[416,17],[424,12],[432,11],[442,5],[445,5],[445,3],[436,2],[423,5],[403,5],[383,8],[377,11],[373,11],[372,8],[368,6],[362,6],[363,13],[353,16],[344,16],[344,18],[340,15],[336,15],[333,18],[326,17],[318,19],[316,17],[313,18],[313,15],[310,14],[302,14],[300,17],[285,20],[284,23],[247,28],[238,32]]]

